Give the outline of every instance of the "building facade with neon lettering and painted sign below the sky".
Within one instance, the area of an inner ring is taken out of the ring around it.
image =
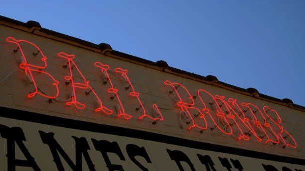
[[[304,171],[305,107],[0,17],[1,171]]]

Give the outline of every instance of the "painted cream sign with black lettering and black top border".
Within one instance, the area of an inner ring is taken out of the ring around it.
[[[1,171],[304,171],[304,160],[1,107]]]

